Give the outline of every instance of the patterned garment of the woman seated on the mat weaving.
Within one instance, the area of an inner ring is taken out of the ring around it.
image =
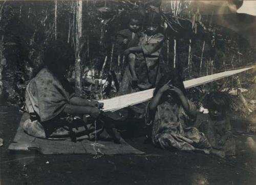
[[[26,110],[30,118],[23,124],[27,134],[48,139],[94,139],[95,126],[82,121],[68,123],[61,120],[66,105],[75,94],[65,79],[59,80],[43,68],[28,84],[26,89]],[[97,123],[96,133],[103,131],[103,124]],[[73,135],[73,136],[71,136]]]

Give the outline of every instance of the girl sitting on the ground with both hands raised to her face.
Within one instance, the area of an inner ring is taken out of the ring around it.
[[[164,149],[210,153],[212,148],[204,134],[189,127],[189,122],[195,118],[196,107],[185,97],[181,78],[170,73],[163,76],[145,113],[153,144]]]

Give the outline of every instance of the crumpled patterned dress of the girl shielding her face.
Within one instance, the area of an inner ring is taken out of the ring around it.
[[[194,103],[188,101],[190,111],[196,111]],[[178,149],[184,151],[202,150],[211,151],[211,145],[203,133],[196,127],[190,127],[189,122],[194,121],[178,104],[167,101],[157,107],[155,116],[146,109],[145,123],[152,126],[152,141],[164,149]]]

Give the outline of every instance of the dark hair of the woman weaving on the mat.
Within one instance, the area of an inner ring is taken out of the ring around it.
[[[69,67],[75,61],[74,49],[63,40],[50,41],[44,50],[44,64],[56,74],[59,66]]]

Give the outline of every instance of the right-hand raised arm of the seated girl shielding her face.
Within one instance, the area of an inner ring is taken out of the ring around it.
[[[175,86],[170,86],[170,87],[171,87],[170,90],[176,92],[178,94],[178,96],[180,97],[181,104],[182,104],[182,107],[183,107],[185,113],[188,116],[196,117],[196,111],[194,109],[190,108],[188,100],[187,100],[186,96],[183,94],[183,92]]]

